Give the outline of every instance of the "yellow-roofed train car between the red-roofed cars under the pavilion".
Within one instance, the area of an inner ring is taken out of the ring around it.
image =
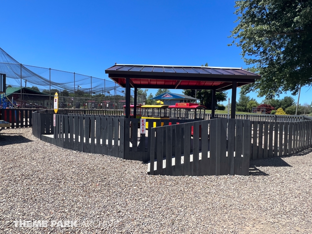
[[[169,119],[169,105],[143,105],[141,106],[142,119]],[[146,128],[149,127],[146,122]],[[156,122],[153,124],[156,127]],[[163,126],[163,123],[161,123]]]

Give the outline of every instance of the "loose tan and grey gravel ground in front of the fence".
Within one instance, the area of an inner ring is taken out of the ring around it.
[[[312,233],[312,153],[253,161],[246,177],[149,176],[147,164],[31,130],[0,134],[0,233]]]

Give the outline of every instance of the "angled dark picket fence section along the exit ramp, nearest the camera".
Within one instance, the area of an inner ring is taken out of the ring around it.
[[[250,120],[212,119],[151,129],[151,175],[249,175],[249,160]]]

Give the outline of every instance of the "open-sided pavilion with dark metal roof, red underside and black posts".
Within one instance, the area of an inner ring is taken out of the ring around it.
[[[232,89],[231,119],[235,119],[237,87],[254,83],[261,78],[260,75],[242,68],[205,66],[115,64],[106,69],[105,73],[121,87],[126,88],[126,118],[130,117],[131,86],[134,88],[134,103],[136,103],[138,88],[212,90],[212,104],[214,105],[216,91]],[[214,113],[214,108],[212,108],[212,118],[214,118]]]

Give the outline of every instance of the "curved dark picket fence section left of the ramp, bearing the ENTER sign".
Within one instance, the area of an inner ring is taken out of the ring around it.
[[[146,134],[139,133],[140,119],[83,114],[56,114],[55,116],[54,127],[53,113],[33,113],[33,135],[66,149],[149,161],[150,131]],[[153,126],[191,121],[193,120],[146,119],[149,129]]]

